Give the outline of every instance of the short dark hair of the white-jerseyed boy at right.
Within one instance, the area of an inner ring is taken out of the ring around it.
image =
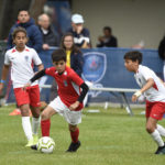
[[[131,59],[132,62],[138,61],[139,64],[141,64],[143,59],[143,55],[139,51],[131,51],[131,52],[125,53],[124,59]]]

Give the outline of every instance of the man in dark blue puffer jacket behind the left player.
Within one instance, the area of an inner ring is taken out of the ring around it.
[[[22,26],[26,30],[29,37],[28,46],[34,48],[36,52],[40,52],[42,50],[42,34],[35,25],[34,20],[30,18],[30,13],[26,10],[19,11],[18,22],[11,28],[9,33],[7,48],[10,50],[14,46],[12,32],[18,26]]]

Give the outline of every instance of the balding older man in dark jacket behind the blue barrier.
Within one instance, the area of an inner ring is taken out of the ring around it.
[[[38,16],[37,23],[43,36],[43,50],[50,50],[50,46],[58,46],[57,36],[51,26],[51,18],[43,13]]]

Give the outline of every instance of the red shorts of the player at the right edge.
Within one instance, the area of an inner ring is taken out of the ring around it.
[[[146,100],[145,117],[162,120],[165,114],[165,102],[150,102]]]

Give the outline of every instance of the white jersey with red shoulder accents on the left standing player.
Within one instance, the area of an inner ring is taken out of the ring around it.
[[[7,51],[4,65],[11,65],[11,80],[13,88],[23,87],[33,76],[33,65],[41,65],[37,53],[34,48],[25,46],[23,52],[18,52],[15,47]],[[32,86],[37,85],[34,81]]]

